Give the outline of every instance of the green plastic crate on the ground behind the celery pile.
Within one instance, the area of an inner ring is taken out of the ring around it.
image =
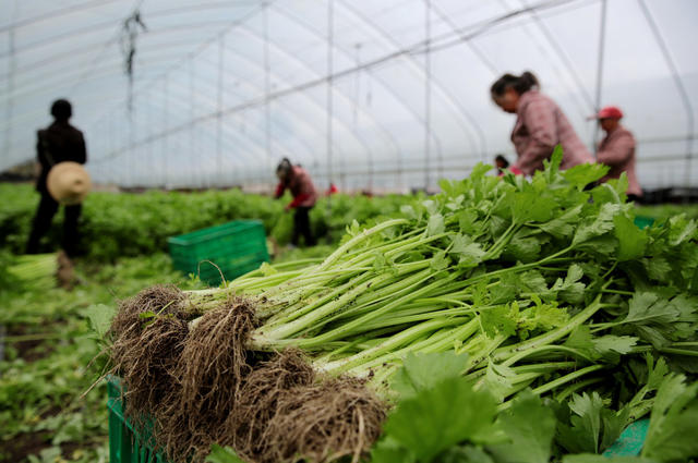
[[[194,273],[210,285],[244,275],[269,261],[264,226],[236,220],[168,240],[174,268]]]

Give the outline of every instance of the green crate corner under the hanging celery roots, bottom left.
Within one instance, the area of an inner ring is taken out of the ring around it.
[[[136,430],[123,416],[121,380],[107,377],[109,407],[109,461],[111,463],[168,463],[154,450],[149,430]]]

